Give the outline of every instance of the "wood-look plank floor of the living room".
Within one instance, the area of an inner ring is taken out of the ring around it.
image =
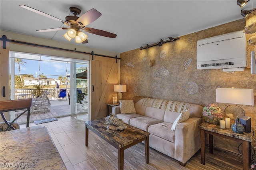
[[[88,147],[84,145],[84,122],[74,116],[40,124],[46,126],[68,170],[116,170],[117,149],[89,130]],[[30,123],[31,126],[36,126]],[[26,125],[21,125],[21,128]],[[200,142],[200,141],[198,141]],[[200,150],[185,167],[176,160],[150,148],[150,163],[145,163],[144,144],[124,150],[125,170],[242,170],[242,156],[231,152],[206,150],[206,164],[201,164]]]

